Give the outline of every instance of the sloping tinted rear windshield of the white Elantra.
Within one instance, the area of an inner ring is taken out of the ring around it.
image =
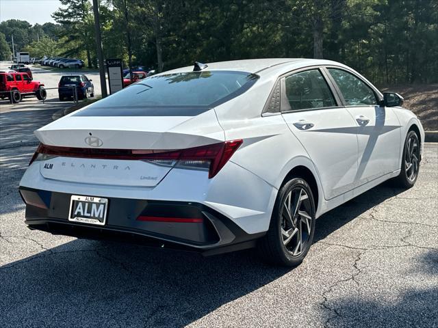
[[[239,96],[257,79],[248,72],[223,70],[156,75],[75,115],[197,115]]]

